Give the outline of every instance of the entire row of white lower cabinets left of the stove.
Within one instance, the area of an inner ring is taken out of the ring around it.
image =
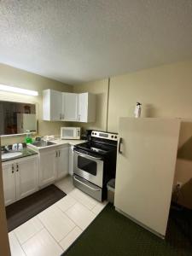
[[[3,191],[5,205],[31,195],[38,188],[46,187],[69,173],[72,162],[70,147],[64,144],[55,148],[44,148],[38,154],[3,162]],[[70,174],[72,174],[70,172]]]

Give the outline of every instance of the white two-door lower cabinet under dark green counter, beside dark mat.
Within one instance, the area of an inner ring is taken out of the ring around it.
[[[11,160],[2,166],[6,206],[38,190],[38,156]]]

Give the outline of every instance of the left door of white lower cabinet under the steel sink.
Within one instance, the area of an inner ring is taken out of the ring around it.
[[[55,149],[44,149],[39,154],[39,185],[45,186],[55,181]]]

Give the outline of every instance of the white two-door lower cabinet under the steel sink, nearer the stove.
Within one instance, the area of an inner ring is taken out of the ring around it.
[[[39,186],[45,187],[68,173],[68,144],[39,151]]]

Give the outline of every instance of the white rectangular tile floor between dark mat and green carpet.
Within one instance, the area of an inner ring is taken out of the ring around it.
[[[55,185],[67,195],[9,232],[12,256],[61,255],[107,204],[74,188],[70,176]]]

